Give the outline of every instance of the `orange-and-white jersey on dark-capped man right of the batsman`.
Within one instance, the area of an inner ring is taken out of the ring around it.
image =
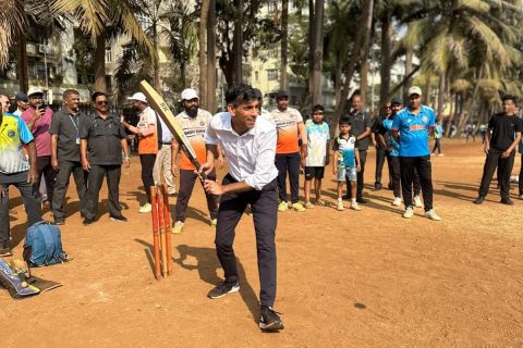
[[[300,146],[297,144],[297,124],[303,123],[303,117],[300,111],[287,108],[287,110],[282,112],[276,109],[270,115],[276,123],[276,129],[278,130],[276,153],[300,152]]]

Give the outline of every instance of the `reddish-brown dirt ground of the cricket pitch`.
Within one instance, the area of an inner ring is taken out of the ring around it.
[[[73,184],[62,240],[74,260],[34,270],[63,287],[23,300],[0,290],[1,345],[523,347],[523,202],[500,204],[492,185],[486,202],[474,206],[484,161],[481,141],[446,139],[442,147],[446,157],[433,158],[441,222],[425,219],[423,209],[412,220],[402,219],[403,207],[390,204],[392,192],[375,192],[372,185],[361,212],[317,207],[279,214],[275,307],[287,327],[278,334],[257,327],[251,216],[244,215],[236,229],[241,290],[210,300],[206,294],[222,271],[199,185],[183,234],[172,236],[173,275],[157,282],[149,257],[150,215],[137,212],[144,198],[138,160],[122,173],[127,224],[109,221],[104,188],[101,216],[84,227]],[[374,171],[372,150],[368,184]],[[387,169],[384,173],[387,177]],[[333,201],[330,170],[324,183],[326,199]],[[514,186],[514,199],[516,194]],[[171,198],[171,210],[174,203]],[[26,216],[20,199],[14,206],[13,244],[21,258]],[[51,220],[48,211],[45,217]]]

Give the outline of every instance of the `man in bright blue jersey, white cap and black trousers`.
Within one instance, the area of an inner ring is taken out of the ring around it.
[[[412,182],[417,170],[422,184],[425,215],[434,221],[439,217],[433,209],[433,177],[428,134],[436,126],[434,110],[422,105],[422,89],[409,89],[409,107],[398,112],[392,122],[392,137],[400,145],[401,186],[405,212],[403,217],[414,215],[412,206]]]

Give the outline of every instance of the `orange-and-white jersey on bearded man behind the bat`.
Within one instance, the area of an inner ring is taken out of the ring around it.
[[[177,115],[177,121],[180,124],[180,127],[182,127],[183,133],[185,133],[185,136],[188,138],[188,142],[193,147],[199,163],[205,163],[207,161],[207,150],[205,149],[205,130],[207,130],[210,117],[212,117],[210,112],[202,109],[198,109],[198,114],[194,119],[188,116],[185,111]],[[190,171],[195,170],[195,166],[185,156],[185,152],[182,152],[182,162],[180,163],[180,169]]]

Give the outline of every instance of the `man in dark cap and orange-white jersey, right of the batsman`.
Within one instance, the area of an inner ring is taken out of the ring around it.
[[[299,202],[300,165],[305,166],[307,157],[307,133],[303,124],[300,111],[289,108],[289,94],[280,90],[276,95],[278,109],[271,112],[272,121],[278,132],[278,144],[276,146],[276,167],[278,169],[278,190],[280,204],[278,211],[282,212],[289,208],[295,211],[305,211]],[[302,139],[300,150],[299,136]],[[291,202],[287,197],[287,173],[291,184]]]

